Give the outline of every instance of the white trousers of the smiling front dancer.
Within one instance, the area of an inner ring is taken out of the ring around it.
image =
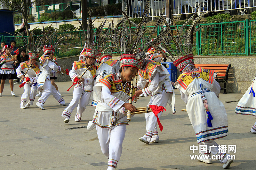
[[[122,154],[126,125],[121,124],[110,129],[96,125],[96,130],[101,151],[108,158],[108,170],[115,169]]]

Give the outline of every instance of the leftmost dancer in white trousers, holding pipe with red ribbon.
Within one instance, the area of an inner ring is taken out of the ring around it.
[[[36,91],[37,91],[37,85],[36,85],[37,78],[40,74],[39,65],[36,63],[36,61],[39,58],[39,55],[34,53],[28,53],[28,58],[29,58],[29,61],[20,63],[19,67],[16,69],[17,77],[21,78],[23,83],[26,82],[25,85],[23,86],[24,93],[21,95],[21,102],[20,102],[21,109],[25,109],[25,108],[28,108],[30,105],[33,105],[33,102],[36,96]],[[24,76],[21,71],[26,73],[26,75]],[[29,78],[29,80],[26,81],[26,78]],[[28,99],[28,95],[29,95],[29,101],[25,106],[25,103]]]

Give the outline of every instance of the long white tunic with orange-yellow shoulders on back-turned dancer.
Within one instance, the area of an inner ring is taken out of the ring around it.
[[[220,85],[214,79],[214,71],[189,67],[175,83],[180,90],[181,99],[187,103],[186,109],[195,130],[197,143],[219,139],[228,135],[228,117],[222,102],[217,98]],[[201,97],[206,97],[209,111],[213,117],[212,127],[207,126],[207,113]]]

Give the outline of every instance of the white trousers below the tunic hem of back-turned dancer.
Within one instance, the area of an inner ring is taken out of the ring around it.
[[[222,158],[222,159],[219,159],[219,161],[224,163],[224,164],[228,161],[228,159],[226,159],[226,158],[229,154],[228,153],[219,153],[219,150],[218,150],[219,145],[214,140],[208,140],[206,142],[201,142],[199,145],[207,145],[207,151],[208,152],[207,153],[202,153],[202,154],[209,154],[209,155],[213,154],[215,156],[220,155],[219,158]],[[209,146],[211,146],[211,151],[210,151]],[[214,146],[216,146],[216,147],[214,147]]]

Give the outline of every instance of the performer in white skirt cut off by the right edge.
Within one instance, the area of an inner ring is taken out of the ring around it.
[[[244,93],[243,97],[239,100],[235,113],[241,115],[252,115],[256,116],[256,98],[255,92],[253,90],[253,84],[256,77],[252,80],[252,85],[248,88],[248,90]],[[251,128],[252,133],[256,133],[256,122],[253,124]]]

